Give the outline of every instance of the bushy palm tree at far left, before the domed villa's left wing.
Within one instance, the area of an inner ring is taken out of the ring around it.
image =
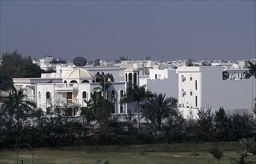
[[[25,119],[26,116],[32,113],[33,108],[36,104],[26,98],[24,89],[17,90],[14,86],[12,87],[12,93],[8,96],[4,96],[4,113],[9,116],[14,116],[17,121],[18,130],[20,127],[20,120]]]

